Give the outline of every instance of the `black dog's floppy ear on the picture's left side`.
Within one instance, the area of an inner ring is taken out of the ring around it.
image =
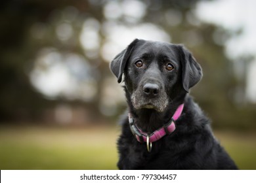
[[[131,42],[131,44],[129,44],[129,46],[127,46],[125,50],[117,54],[117,56],[111,61],[110,70],[117,77],[117,82],[121,82],[126,62],[129,59],[131,53],[133,52],[133,48],[138,41],[139,39],[135,39],[133,42]]]

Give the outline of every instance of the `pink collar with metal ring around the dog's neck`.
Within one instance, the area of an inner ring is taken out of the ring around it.
[[[173,114],[173,117],[171,118],[171,120],[167,124],[165,124],[163,127],[161,127],[160,129],[157,129],[151,134],[146,133],[141,129],[139,129],[139,127],[137,127],[137,125],[135,124],[133,118],[131,118],[131,114],[129,113],[129,124],[131,128],[131,132],[136,137],[137,141],[141,143],[147,142],[148,151],[150,152],[151,148],[149,148],[149,145],[152,147],[152,142],[156,142],[159,139],[161,139],[161,137],[165,135],[169,135],[173,131],[175,131],[176,127],[174,122],[181,116],[183,107],[184,107],[184,104],[179,105],[179,107]]]

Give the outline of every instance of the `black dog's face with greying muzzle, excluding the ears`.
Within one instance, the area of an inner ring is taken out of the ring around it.
[[[163,42],[140,42],[125,67],[125,84],[136,109],[163,112],[180,76],[177,53]]]

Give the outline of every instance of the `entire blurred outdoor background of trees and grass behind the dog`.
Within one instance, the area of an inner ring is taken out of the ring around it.
[[[110,61],[133,39],[184,44],[192,88],[240,169],[256,169],[256,1],[3,0],[0,169],[117,169],[125,110]]]

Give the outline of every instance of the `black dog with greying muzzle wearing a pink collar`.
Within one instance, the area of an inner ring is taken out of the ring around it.
[[[129,105],[119,169],[237,169],[188,95],[202,69],[183,46],[135,39],[110,69],[118,82],[124,75]]]

